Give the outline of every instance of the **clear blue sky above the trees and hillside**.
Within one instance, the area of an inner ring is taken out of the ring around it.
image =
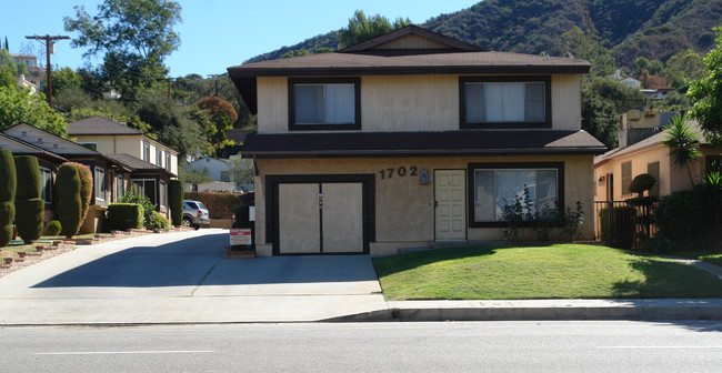
[[[19,53],[22,44],[36,51],[44,49],[38,41],[26,40],[32,34],[74,36],[63,29],[63,17],[74,16],[74,6],[84,6],[92,16],[101,0],[36,0],[9,1],[0,16],[0,38],[8,38],[10,52]],[[171,77],[189,73],[202,75],[224,73],[225,68],[283,46],[292,46],[308,38],[345,27],[357,9],[367,16],[381,14],[391,20],[408,17],[422,23],[441,13],[470,8],[477,0],[410,1],[298,1],[298,0],[195,0],[179,1],[183,7],[183,22],[174,30],[180,33],[181,47],[166,64]],[[86,49],[70,47],[69,40],[56,44],[51,63],[78,68],[86,63]],[[89,60],[93,65],[99,58]],[[44,60],[42,61],[44,64]]]

